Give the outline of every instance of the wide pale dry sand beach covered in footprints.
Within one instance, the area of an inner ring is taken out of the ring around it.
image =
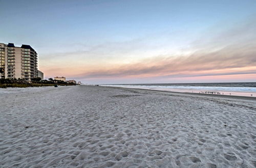
[[[0,167],[256,166],[253,99],[96,86],[0,98]]]

